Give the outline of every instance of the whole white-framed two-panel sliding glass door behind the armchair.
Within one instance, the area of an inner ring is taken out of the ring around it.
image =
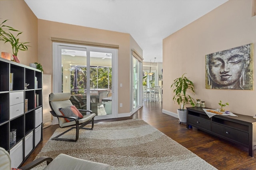
[[[71,102],[92,110],[96,119],[117,117],[117,50],[62,43],[53,49],[53,91],[70,92]]]

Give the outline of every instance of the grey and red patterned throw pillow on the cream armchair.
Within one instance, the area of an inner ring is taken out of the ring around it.
[[[82,119],[84,116],[82,115],[82,113],[80,113],[80,111],[76,108],[76,106],[70,106],[70,107],[65,107],[65,108],[59,108],[60,112],[62,113],[62,115],[64,116],[68,116],[68,117],[76,117],[78,119]],[[64,118],[67,122],[70,121],[74,121],[74,119],[70,119],[70,118]]]

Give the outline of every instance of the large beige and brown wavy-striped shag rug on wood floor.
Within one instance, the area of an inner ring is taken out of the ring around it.
[[[56,129],[52,137],[64,130]],[[65,137],[74,138],[75,130]],[[37,158],[60,153],[109,164],[112,170],[216,170],[141,119],[94,124],[93,130],[80,130],[77,142],[49,139]]]

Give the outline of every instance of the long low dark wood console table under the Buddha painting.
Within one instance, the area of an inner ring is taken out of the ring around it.
[[[256,149],[256,119],[247,115],[234,114],[238,117],[224,115],[208,117],[201,107],[187,107],[187,129],[191,125],[247,147],[249,156],[253,157],[253,150]]]

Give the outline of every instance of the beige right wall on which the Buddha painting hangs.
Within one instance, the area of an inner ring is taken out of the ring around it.
[[[205,88],[206,54],[249,43],[254,43],[255,49],[256,17],[251,16],[251,0],[230,0],[163,40],[163,110],[177,113],[170,85],[186,72],[196,86],[194,99],[206,101],[206,107],[219,108],[222,100],[230,104],[226,110],[255,116],[255,80],[254,90]]]

